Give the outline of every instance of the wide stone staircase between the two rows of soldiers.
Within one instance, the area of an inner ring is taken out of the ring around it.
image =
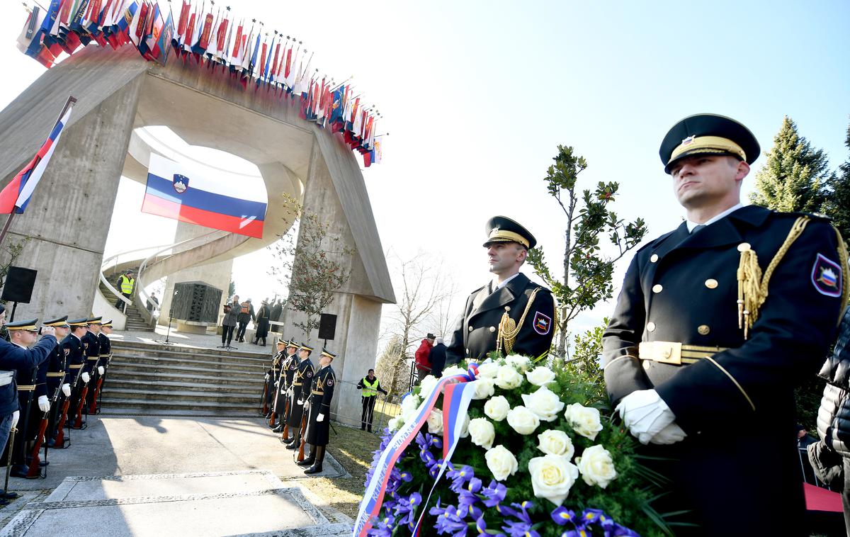
[[[271,355],[112,342],[103,414],[257,417]]]

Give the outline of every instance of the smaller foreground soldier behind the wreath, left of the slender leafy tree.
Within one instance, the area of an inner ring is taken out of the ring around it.
[[[552,346],[555,302],[551,291],[519,272],[537,240],[506,217],[490,218],[484,230],[484,248],[496,279],[467,297],[445,361],[482,359],[493,351],[543,358]]]

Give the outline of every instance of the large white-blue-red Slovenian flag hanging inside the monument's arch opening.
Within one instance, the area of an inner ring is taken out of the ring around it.
[[[151,153],[142,212],[262,239],[266,203],[260,196],[215,170]]]

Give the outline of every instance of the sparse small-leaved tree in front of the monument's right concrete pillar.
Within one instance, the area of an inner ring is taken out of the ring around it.
[[[309,336],[319,327],[321,313],[333,302],[333,293],[351,276],[351,269],[343,261],[356,250],[331,235],[330,224],[292,196],[285,196],[284,208],[293,223],[286,235],[269,246],[279,261],[271,274],[289,289],[286,308],[303,314],[303,320],[292,325]]]

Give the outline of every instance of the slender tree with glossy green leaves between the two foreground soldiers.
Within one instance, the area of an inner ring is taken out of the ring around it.
[[[558,303],[558,354],[563,356],[567,325],[582,311],[613,296],[614,264],[638,246],[647,229],[643,218],[626,223],[611,211],[619,184],[600,182],[593,190],[578,189],[578,176],[587,168],[587,161],[575,155],[572,147],[558,145],[553,160],[545,180],[549,194],[564,211],[563,276],[553,274],[541,246],[531,250],[528,259]],[[613,256],[603,254],[600,242],[604,239],[613,246]]]

